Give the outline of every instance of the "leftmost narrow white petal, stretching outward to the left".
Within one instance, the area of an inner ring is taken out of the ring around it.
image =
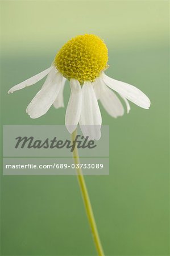
[[[48,73],[51,71],[51,69],[53,68],[53,66],[45,69],[44,71],[38,73],[35,76],[32,76],[30,79],[27,79],[26,81],[20,82],[19,84],[13,86],[8,93],[13,93],[15,92],[15,90],[20,90],[23,89],[24,87],[30,86],[35,84],[36,82],[42,80],[45,76],[48,75]]]

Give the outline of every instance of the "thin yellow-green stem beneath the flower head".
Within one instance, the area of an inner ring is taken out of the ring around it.
[[[76,135],[77,135],[77,129],[72,133],[72,142],[76,138]],[[79,156],[78,156],[78,150],[77,150],[76,146],[73,150],[73,159],[74,159],[75,165],[80,163]],[[98,256],[104,256],[102,245],[101,245],[101,242],[99,240],[96,221],[95,221],[95,218],[94,218],[92,205],[90,203],[90,198],[89,198],[89,195],[88,195],[88,190],[86,188],[84,176],[82,174],[81,168],[76,168],[76,171],[77,171],[78,183],[80,185],[80,190],[81,190],[81,193],[82,193],[82,199],[84,201],[84,205],[85,205],[85,209],[86,209],[86,214],[88,216],[90,228],[91,228],[92,234],[93,234],[94,244],[96,245],[96,250],[97,250]]]

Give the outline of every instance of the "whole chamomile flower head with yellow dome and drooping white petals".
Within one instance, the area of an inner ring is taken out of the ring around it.
[[[33,85],[47,76],[42,89],[26,109],[31,118],[39,118],[52,105],[56,109],[64,106],[63,89],[68,79],[71,95],[65,114],[65,125],[69,133],[73,133],[79,123],[85,136],[99,139],[102,118],[98,100],[114,118],[124,114],[119,98],[125,101],[127,113],[130,111],[128,101],[144,109],[150,107],[149,98],[141,90],[105,74],[109,67],[107,61],[108,51],[103,40],[96,35],[76,36],[61,47],[51,67],[15,85],[8,93]]]

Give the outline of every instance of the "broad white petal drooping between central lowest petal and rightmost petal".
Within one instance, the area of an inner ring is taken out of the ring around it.
[[[122,116],[124,114],[124,108],[117,95],[105,85],[102,79],[99,80],[98,87],[101,90],[99,100],[107,113],[114,118]]]

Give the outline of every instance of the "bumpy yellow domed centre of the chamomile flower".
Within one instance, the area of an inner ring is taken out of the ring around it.
[[[67,79],[94,81],[107,68],[106,44],[96,35],[72,38],[57,53],[54,64]]]

